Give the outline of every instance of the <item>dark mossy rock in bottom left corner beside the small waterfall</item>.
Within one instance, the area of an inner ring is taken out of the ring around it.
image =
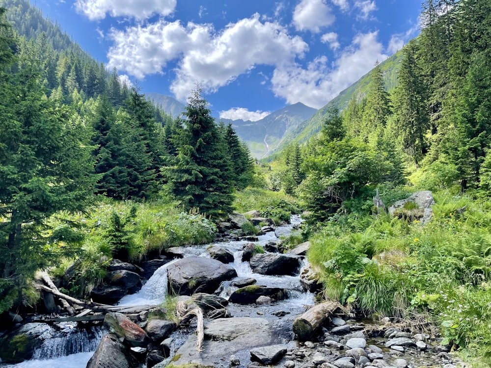
[[[0,359],[2,363],[20,363],[32,358],[34,350],[43,342],[40,339],[49,333],[50,326],[45,323],[27,323],[0,339]]]

